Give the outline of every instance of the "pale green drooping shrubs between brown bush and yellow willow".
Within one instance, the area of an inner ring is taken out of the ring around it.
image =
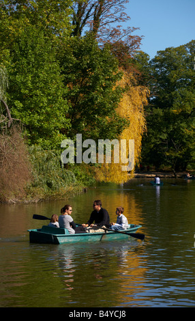
[[[65,169],[60,162],[59,150],[43,150],[40,146],[29,147],[32,180],[27,188],[29,199],[59,199],[82,191],[82,186],[92,182],[89,168],[85,165]]]

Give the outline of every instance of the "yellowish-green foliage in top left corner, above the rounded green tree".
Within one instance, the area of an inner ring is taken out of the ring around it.
[[[15,36],[25,27],[37,26],[52,41],[65,38],[72,31],[70,23],[71,0],[1,0],[1,41],[11,46]]]

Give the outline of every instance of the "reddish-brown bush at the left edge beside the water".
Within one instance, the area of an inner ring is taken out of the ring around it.
[[[0,135],[0,202],[14,203],[26,197],[31,180],[29,153],[20,127],[12,126]]]

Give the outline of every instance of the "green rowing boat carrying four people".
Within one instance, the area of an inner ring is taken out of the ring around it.
[[[135,233],[142,225],[129,224],[128,229],[121,229],[118,232],[106,229],[104,232],[69,234],[67,229],[61,227],[50,227],[43,225],[40,229],[28,229],[29,240],[32,243],[45,244],[69,244],[77,242],[96,242],[102,240],[123,240],[131,236],[143,236]],[[137,237],[143,239],[141,237]]]

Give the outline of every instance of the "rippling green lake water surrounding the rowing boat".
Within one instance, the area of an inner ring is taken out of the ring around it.
[[[175,183],[173,185],[172,183]],[[164,179],[101,184],[62,201],[0,205],[0,307],[195,307],[195,180]],[[94,199],[116,221],[117,206],[145,240],[87,245],[29,243],[27,229],[41,227],[71,204],[86,223]]]

